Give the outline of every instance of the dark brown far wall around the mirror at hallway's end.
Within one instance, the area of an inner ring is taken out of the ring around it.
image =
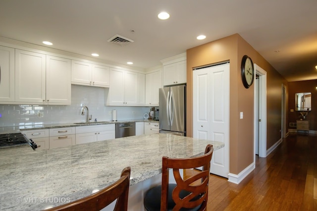
[[[310,130],[317,130],[317,80],[309,80],[309,81],[300,81],[300,82],[289,82],[289,109],[288,109],[288,116],[289,122],[288,123],[296,123],[296,120],[300,119],[299,112],[295,111],[295,93],[297,92],[312,92],[312,111],[306,116],[306,120],[309,121],[309,129]],[[294,109],[294,112],[291,112],[291,109]],[[289,129],[296,129],[296,127],[289,127]]]

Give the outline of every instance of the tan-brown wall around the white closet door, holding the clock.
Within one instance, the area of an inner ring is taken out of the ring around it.
[[[281,138],[282,83],[287,82],[238,34],[187,49],[187,135],[193,136],[193,69],[230,61],[230,173],[238,174],[254,158],[254,84],[241,81],[241,59],[248,55],[267,72],[267,149]],[[243,112],[243,119],[240,119]]]

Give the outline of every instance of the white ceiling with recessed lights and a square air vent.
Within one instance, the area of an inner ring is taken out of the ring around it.
[[[317,0],[0,0],[0,37],[148,69],[238,33],[285,79],[302,81],[317,79],[316,10]],[[116,34],[134,42],[108,43]]]

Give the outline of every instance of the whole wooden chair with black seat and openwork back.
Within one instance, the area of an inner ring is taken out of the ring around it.
[[[212,145],[207,145],[200,157],[162,158],[162,183],[151,188],[144,197],[147,211],[206,211]],[[199,173],[182,179],[180,169],[203,167]],[[168,183],[169,169],[173,169],[176,184]]]

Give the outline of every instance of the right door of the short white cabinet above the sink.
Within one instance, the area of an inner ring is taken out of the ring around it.
[[[92,82],[95,86],[109,87],[109,68],[93,64]]]

